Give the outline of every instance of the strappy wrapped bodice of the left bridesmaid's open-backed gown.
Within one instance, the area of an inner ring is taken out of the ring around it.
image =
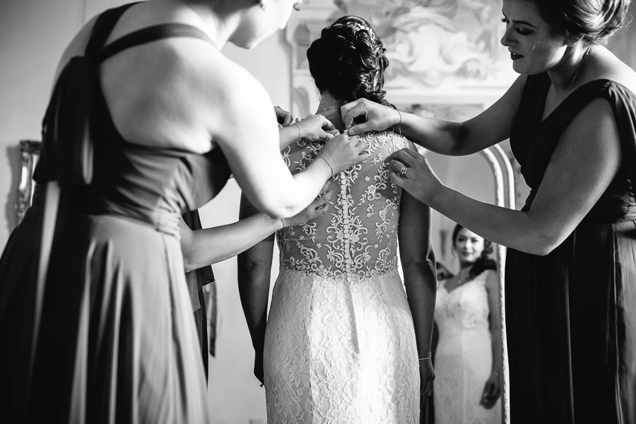
[[[137,30],[105,45],[114,22],[133,5],[100,16],[84,56],[72,58],[61,72],[42,124],[42,153],[34,179],[41,184],[59,180],[64,200],[78,213],[126,216],[174,233],[184,211],[206,204],[228,181],[225,156],[218,146],[200,154],[126,141],[102,92],[100,64],[124,49],[167,37],[211,41],[198,28],[170,23]],[[77,136],[80,130],[88,136]],[[92,179],[87,184],[68,183],[64,176],[69,169],[73,175],[86,174],[88,169]],[[37,194],[35,201],[39,199]]]

